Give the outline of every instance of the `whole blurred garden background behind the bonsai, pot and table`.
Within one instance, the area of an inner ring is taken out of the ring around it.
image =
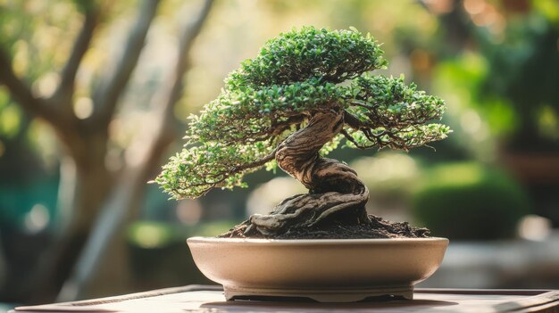
[[[559,2],[0,0],[3,308],[209,283],[185,239],[303,186],[262,170],[175,202],[146,182],[229,71],[304,25],[371,32],[381,73],[446,100],[435,149],[331,154],[372,214],[451,239],[422,285],[559,288]]]

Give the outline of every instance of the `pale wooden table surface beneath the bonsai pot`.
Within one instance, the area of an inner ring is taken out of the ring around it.
[[[88,301],[18,307],[19,312],[555,312],[559,291],[416,289],[413,301],[357,303],[225,301],[221,286],[188,285]]]

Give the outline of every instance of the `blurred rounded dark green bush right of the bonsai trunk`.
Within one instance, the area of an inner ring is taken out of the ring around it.
[[[430,169],[413,195],[413,215],[433,235],[488,240],[514,235],[530,212],[527,195],[511,177],[477,163]]]

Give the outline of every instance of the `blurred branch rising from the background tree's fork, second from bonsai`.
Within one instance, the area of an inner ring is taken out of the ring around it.
[[[159,1],[145,0],[143,2],[136,23],[130,29],[129,40],[124,45],[120,61],[117,62],[110,77],[104,79],[104,84],[95,92],[94,101],[100,107],[96,118],[100,119],[99,122],[103,126],[111,121],[122,91],[138,64],[139,55],[146,42],[147,31],[154,20]]]

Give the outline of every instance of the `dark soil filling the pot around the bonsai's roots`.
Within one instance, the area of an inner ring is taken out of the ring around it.
[[[410,227],[407,222],[391,222],[374,215],[368,216],[371,223],[346,224],[331,222],[317,227],[291,228],[286,233],[272,236],[246,236],[246,223],[233,227],[221,238],[269,238],[269,239],[378,239],[378,238],[426,238],[427,228]]]

